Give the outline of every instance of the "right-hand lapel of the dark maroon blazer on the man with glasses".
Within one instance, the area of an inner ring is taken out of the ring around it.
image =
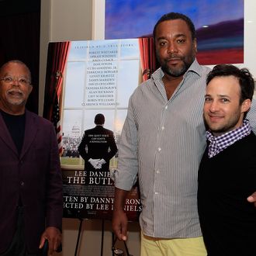
[[[26,123],[25,123],[25,133],[24,133],[24,141],[22,146],[22,151],[20,154],[20,158],[26,154],[26,151],[29,149],[33,140],[36,137],[36,133],[38,130],[38,123],[36,122],[35,116],[29,111],[26,110]]]

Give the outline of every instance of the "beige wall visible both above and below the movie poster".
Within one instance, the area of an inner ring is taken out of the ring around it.
[[[67,40],[104,39],[104,29],[97,29],[104,22],[104,0],[43,0],[41,1],[40,31],[40,88],[39,113],[43,113],[44,84],[47,66],[47,47],[49,42]],[[63,252],[60,256],[74,255],[78,237],[79,220],[63,219]],[[112,233],[110,221],[105,221],[103,255],[112,256]],[[100,255],[102,221],[84,220],[78,256]],[[140,254],[140,227],[130,223],[127,245],[130,254]],[[124,250],[123,243],[117,244]]]

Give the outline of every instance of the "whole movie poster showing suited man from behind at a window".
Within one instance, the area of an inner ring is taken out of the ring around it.
[[[118,162],[119,137],[128,101],[143,79],[140,58],[139,39],[49,44],[44,116],[55,111],[48,118],[56,126],[61,123],[57,133],[61,133],[58,140],[62,150],[64,217],[112,218],[111,175]],[[47,98],[54,93],[50,108]],[[95,130],[98,114],[105,118],[100,132]],[[102,158],[105,163],[100,162]],[[138,185],[130,191],[125,210],[129,220],[138,220],[141,211]]]

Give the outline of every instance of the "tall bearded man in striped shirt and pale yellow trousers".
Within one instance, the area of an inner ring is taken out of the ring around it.
[[[123,206],[138,175],[140,254],[205,256],[197,174],[206,148],[202,107],[209,68],[195,59],[195,26],[187,16],[162,16],[154,26],[154,42],[161,67],[130,97],[119,143],[112,229],[126,240]]]

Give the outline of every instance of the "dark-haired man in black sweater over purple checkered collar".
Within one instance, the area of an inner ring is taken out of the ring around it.
[[[198,206],[209,256],[256,255],[256,136],[245,119],[254,94],[247,69],[217,65],[203,109],[209,130],[199,167]]]

